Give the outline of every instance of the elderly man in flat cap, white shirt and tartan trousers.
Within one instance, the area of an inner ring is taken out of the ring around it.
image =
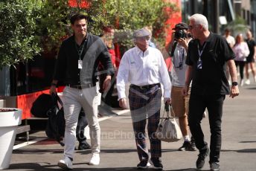
[[[144,28],[135,30],[133,38],[135,47],[124,54],[118,69],[119,105],[122,108],[127,108],[125,84],[131,83],[129,86],[129,109],[140,160],[137,167],[144,169],[152,164],[153,168],[161,170],[163,168],[161,141],[156,138],[155,132],[160,120],[162,97],[160,83],[164,87],[164,103],[170,103],[170,77],[161,52],[149,46],[150,32]],[[151,158],[149,158],[145,140],[147,119]]]

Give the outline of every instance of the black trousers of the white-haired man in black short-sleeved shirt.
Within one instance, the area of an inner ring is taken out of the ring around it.
[[[223,101],[225,95],[195,95],[191,94],[189,100],[188,124],[195,139],[199,152],[205,152],[208,144],[205,142],[201,128],[202,114],[208,109],[211,129],[210,163],[219,162],[221,148],[221,122],[223,116]]]

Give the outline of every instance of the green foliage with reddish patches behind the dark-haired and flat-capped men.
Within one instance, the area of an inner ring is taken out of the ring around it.
[[[89,17],[88,30],[100,35],[103,26],[112,25],[117,30],[116,42],[130,46],[131,33],[145,26],[153,27],[153,36],[164,46],[166,20],[176,12],[176,4],[163,0],[87,0],[89,7],[81,7],[84,0],[77,0],[77,7],[68,7],[66,0],[45,0],[42,30],[48,48],[60,47],[60,39],[71,33],[68,19],[74,13]],[[48,15],[51,13],[51,15]]]

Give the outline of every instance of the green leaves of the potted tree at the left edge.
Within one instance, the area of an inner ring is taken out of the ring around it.
[[[39,53],[35,32],[41,5],[40,0],[1,0],[0,68],[32,59]]]

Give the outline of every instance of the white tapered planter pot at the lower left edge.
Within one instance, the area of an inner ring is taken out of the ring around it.
[[[10,166],[16,130],[22,123],[22,110],[0,112],[0,170]]]

